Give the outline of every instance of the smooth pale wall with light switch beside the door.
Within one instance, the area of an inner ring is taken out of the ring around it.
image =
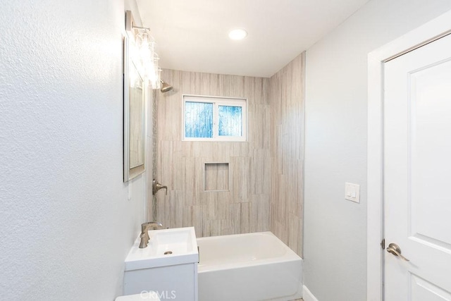
[[[366,55],[449,9],[372,0],[307,50],[304,267],[320,301],[366,300]],[[346,181],[360,204],[344,199]]]

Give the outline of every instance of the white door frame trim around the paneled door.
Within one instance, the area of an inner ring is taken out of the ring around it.
[[[451,34],[451,11],[368,54],[366,300],[383,300],[383,66]]]

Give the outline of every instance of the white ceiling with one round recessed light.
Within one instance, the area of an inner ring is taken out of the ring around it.
[[[271,77],[369,0],[137,0],[160,67]],[[241,41],[228,32],[244,28]]]

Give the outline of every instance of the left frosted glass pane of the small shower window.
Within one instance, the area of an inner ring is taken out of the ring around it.
[[[185,102],[185,137],[213,137],[213,104]]]

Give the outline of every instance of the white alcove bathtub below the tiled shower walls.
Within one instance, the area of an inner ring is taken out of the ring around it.
[[[197,238],[199,301],[295,300],[302,258],[271,232]]]

